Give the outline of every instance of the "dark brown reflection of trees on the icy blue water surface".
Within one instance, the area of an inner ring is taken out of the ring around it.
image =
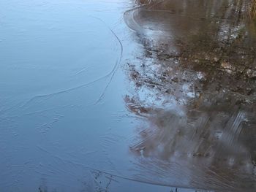
[[[143,45],[127,67],[135,93],[125,101],[148,120],[131,150],[159,180],[256,188],[256,41],[245,9],[246,1],[173,0],[125,13]]]

